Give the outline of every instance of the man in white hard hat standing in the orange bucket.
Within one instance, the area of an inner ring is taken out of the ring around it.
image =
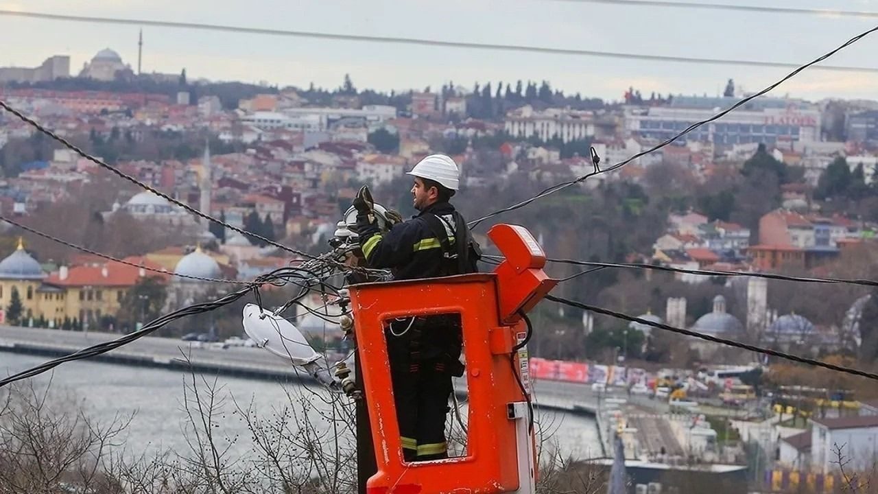
[[[386,233],[375,222],[368,187],[356,194],[356,230],[366,264],[391,269],[395,280],[476,272],[479,246],[449,203],[458,189],[457,164],[449,156],[430,155],[408,175],[414,176],[411,192],[420,213]],[[385,338],[405,461],[447,458],[451,376],[464,374],[460,315],[397,318],[386,323]]]

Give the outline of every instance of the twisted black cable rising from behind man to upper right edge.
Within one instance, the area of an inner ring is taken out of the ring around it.
[[[871,33],[874,33],[875,31],[878,31],[878,26],[875,26],[872,29],[869,29],[863,33],[860,33],[860,34],[854,36],[853,38],[851,38],[850,40],[847,40],[845,43],[843,43],[839,47],[836,47],[835,49],[831,50],[830,52],[823,54],[821,56],[818,56],[816,59],[812,60],[811,62],[808,62],[802,66],[797,67],[795,70],[793,70],[788,75],[784,76],[783,78],[781,78],[779,81],[775,82],[774,84],[768,85],[762,91],[754,93],[751,96],[740,99],[734,105],[729,106],[728,108],[726,108],[725,110],[723,110],[720,113],[716,113],[716,115],[710,117],[709,119],[695,122],[694,124],[687,127],[679,134],[674,135],[670,139],[667,139],[666,141],[660,142],[659,144],[653,146],[650,149],[646,149],[645,151],[641,151],[641,152],[637,153],[636,155],[631,156],[630,158],[628,158],[622,162],[615,163],[613,166],[610,166],[609,168],[601,170],[601,168],[598,166],[598,163],[597,163],[599,160],[594,160],[595,156],[593,153],[594,171],[592,171],[591,173],[587,173],[586,175],[582,175],[578,178],[574,178],[573,180],[569,180],[567,182],[561,182],[561,183],[556,184],[556,185],[551,185],[550,187],[543,189],[543,191],[541,193],[536,194],[536,196],[531,197],[530,199],[522,200],[521,202],[518,202],[518,203],[514,204],[513,206],[504,207],[503,209],[499,209],[497,211],[494,211],[493,213],[487,214],[486,216],[483,216],[483,217],[479,218],[478,220],[474,220],[472,222],[467,223],[467,226],[469,226],[471,229],[475,228],[476,226],[479,225],[479,223],[484,222],[485,220],[487,220],[489,218],[493,218],[494,216],[497,216],[497,215],[503,214],[503,213],[507,213],[509,211],[514,211],[515,209],[518,209],[520,207],[525,207],[535,200],[541,199],[541,198],[543,198],[547,195],[550,195],[552,193],[557,193],[558,191],[563,190],[571,185],[579,184],[580,182],[585,181],[588,178],[594,177],[595,175],[600,175],[601,173],[606,173],[608,171],[615,171],[615,170],[623,167],[624,165],[636,160],[637,158],[639,158],[641,156],[646,156],[646,155],[651,154],[659,149],[662,149],[662,148],[666,147],[667,145],[671,144],[672,142],[676,141],[680,137],[692,132],[694,129],[696,129],[698,127],[702,127],[702,125],[706,125],[714,120],[719,120],[719,119],[723,118],[723,116],[725,116],[726,114],[731,113],[732,111],[738,109],[738,107],[747,104],[752,99],[759,98],[760,96],[766,94],[767,92],[774,90],[774,88],[787,82],[789,79],[797,76],[800,72],[802,72],[802,70],[808,69],[809,67],[814,66],[815,64],[817,64],[819,62],[823,62],[824,60],[831,57],[832,55],[837,54],[839,51],[845,49],[846,47],[853,45],[853,43],[856,43],[857,41],[862,40],[863,38],[865,38],[866,36],[868,36]]]

